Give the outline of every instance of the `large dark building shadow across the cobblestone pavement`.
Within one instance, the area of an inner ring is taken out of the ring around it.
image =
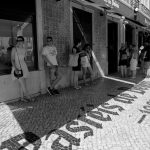
[[[44,94],[38,96],[35,102],[18,101],[7,105],[23,131],[19,136],[23,136],[29,143],[34,143],[132,86],[120,81],[100,78],[80,90],[65,88],[57,96]],[[19,136],[16,136],[16,139],[14,137],[14,140],[18,140]],[[3,141],[2,146],[8,145],[8,141],[9,139]],[[35,147],[38,149],[40,144],[37,142]],[[22,147],[19,149],[21,150]]]

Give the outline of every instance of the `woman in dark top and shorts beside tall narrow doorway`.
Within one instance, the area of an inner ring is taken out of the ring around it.
[[[128,65],[128,54],[124,43],[122,43],[119,50],[119,66],[121,71],[121,77],[127,77],[127,65]]]

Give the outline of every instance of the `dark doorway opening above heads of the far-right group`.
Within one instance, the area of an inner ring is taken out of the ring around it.
[[[127,45],[133,44],[133,28],[130,25],[126,25],[126,30],[125,30],[125,41]]]

